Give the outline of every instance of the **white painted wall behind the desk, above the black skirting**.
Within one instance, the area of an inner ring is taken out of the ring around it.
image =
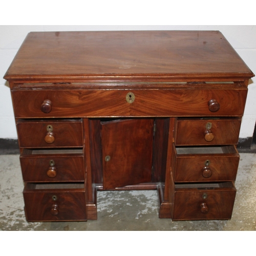
[[[0,138],[17,138],[8,83],[3,79],[17,50],[31,31],[93,30],[220,30],[232,47],[256,74],[256,26],[170,26],[170,25],[90,25],[90,26],[0,26]],[[252,137],[256,120],[256,78],[249,82],[249,92],[242,120],[240,138]]]

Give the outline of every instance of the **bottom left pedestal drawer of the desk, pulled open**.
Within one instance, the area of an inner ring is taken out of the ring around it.
[[[86,220],[84,184],[31,184],[23,191],[27,221]]]

